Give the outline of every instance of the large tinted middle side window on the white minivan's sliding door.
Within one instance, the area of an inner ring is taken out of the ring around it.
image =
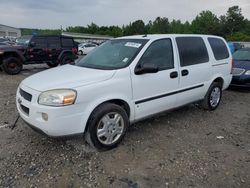
[[[206,45],[201,37],[176,38],[182,67],[209,61]]]

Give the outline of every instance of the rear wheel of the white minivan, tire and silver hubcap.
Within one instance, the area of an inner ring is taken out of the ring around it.
[[[213,82],[209,87],[205,98],[202,101],[202,107],[205,110],[215,110],[221,101],[222,97],[222,86],[218,82]]]

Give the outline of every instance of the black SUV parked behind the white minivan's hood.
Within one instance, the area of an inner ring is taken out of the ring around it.
[[[0,68],[7,74],[18,74],[24,64],[47,63],[50,67],[74,62],[77,44],[72,37],[61,35],[32,36],[17,45],[0,46]]]

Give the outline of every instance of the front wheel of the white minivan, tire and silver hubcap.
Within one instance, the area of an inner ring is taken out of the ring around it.
[[[113,103],[97,107],[90,116],[86,141],[98,150],[115,148],[125,136],[129,126],[126,111]]]

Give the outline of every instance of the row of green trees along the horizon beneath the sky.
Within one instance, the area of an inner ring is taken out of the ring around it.
[[[147,24],[143,20],[136,20],[128,25],[98,26],[91,23],[85,26],[69,26],[66,29],[21,29],[22,35],[61,34],[62,31],[75,33],[89,33],[120,37],[136,34],[211,34],[219,35],[230,41],[250,42],[250,20],[242,15],[239,6],[232,6],[225,15],[217,17],[213,12],[206,10],[197,15],[191,22],[180,20],[170,21],[166,17],[157,17]]]

